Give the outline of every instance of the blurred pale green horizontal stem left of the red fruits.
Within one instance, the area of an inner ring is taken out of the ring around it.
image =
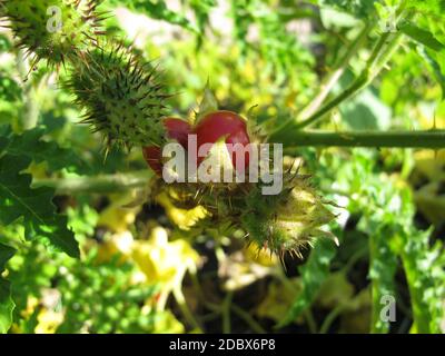
[[[56,189],[57,194],[108,194],[145,187],[148,185],[152,176],[152,172],[149,169],[146,169],[129,174],[97,177],[34,179],[32,186],[34,188],[50,187]]]

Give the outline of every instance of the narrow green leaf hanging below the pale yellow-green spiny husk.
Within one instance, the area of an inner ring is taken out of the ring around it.
[[[333,241],[319,239],[310,253],[308,261],[299,268],[301,274],[303,290],[291,306],[286,318],[277,327],[283,327],[294,322],[305,312],[318,295],[323,283],[329,276],[330,261],[337,251]]]

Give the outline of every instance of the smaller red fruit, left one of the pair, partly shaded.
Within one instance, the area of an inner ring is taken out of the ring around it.
[[[181,119],[167,118],[164,120],[167,137],[177,140],[187,149],[188,135],[191,132],[190,125]],[[148,166],[158,175],[162,176],[162,150],[160,147],[147,146],[142,148],[144,158]]]

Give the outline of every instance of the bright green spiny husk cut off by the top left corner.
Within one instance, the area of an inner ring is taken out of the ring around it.
[[[102,33],[96,0],[0,0],[0,6],[18,47],[34,56],[33,65],[76,60]]]

